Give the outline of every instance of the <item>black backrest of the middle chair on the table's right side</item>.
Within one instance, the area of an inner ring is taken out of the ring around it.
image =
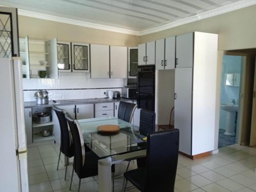
[[[147,110],[140,110],[140,134],[146,136],[148,133],[155,132],[155,129],[156,113]]]

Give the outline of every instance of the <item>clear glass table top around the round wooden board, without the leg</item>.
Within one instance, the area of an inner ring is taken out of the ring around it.
[[[144,150],[146,142],[139,127],[113,117],[78,120],[84,142],[100,158]],[[105,124],[119,125],[120,131],[114,134],[99,133],[97,127]]]

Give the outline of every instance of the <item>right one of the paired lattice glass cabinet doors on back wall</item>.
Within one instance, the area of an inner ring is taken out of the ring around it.
[[[73,72],[90,72],[89,44],[72,42]]]

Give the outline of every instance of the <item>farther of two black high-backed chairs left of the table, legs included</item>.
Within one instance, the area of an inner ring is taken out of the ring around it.
[[[66,172],[65,172],[65,180],[67,176],[67,168],[68,168],[68,158],[74,156],[74,147],[72,142],[71,132],[68,126],[68,122],[65,118],[66,111],[53,106],[53,110],[55,111],[60,126],[60,148],[59,148],[59,159],[57,170],[59,168],[59,160],[60,154],[64,154],[66,156]]]

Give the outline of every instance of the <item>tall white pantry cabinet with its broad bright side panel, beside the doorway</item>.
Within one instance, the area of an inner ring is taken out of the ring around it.
[[[217,51],[217,34],[176,37],[175,128],[189,156],[215,150]]]

